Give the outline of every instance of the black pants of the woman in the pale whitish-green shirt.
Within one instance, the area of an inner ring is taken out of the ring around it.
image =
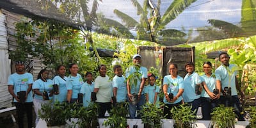
[[[105,113],[111,110],[111,102],[96,102],[99,104],[99,118],[105,118]]]

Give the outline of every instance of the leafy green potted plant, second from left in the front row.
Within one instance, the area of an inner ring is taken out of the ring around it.
[[[77,118],[76,122],[72,122],[74,127],[92,127],[98,128],[98,108],[95,102],[91,102],[87,107],[79,106],[78,103],[74,103],[72,106],[72,117]]]

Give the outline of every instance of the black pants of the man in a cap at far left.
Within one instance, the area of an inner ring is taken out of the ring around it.
[[[28,119],[28,128],[33,127],[33,102],[25,102],[24,104],[15,102],[15,107],[17,109],[17,116],[18,116],[18,125],[19,128],[23,128],[23,118],[24,112],[26,112],[27,119]]]

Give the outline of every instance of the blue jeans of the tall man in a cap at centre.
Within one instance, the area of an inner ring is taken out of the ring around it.
[[[129,102],[129,114],[130,114],[130,118],[136,118],[136,110],[137,111],[137,118],[140,118],[140,109],[143,106],[143,104],[145,104],[145,96],[144,94],[141,94],[140,96],[140,100],[138,101],[138,103],[136,105],[133,105],[131,102]]]

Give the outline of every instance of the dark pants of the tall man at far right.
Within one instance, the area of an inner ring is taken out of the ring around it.
[[[234,113],[236,113],[236,115],[237,115],[237,120],[244,121],[244,117],[241,114],[243,109],[241,107],[241,102],[238,99],[237,95],[232,95],[231,98],[227,98],[227,97],[221,96],[220,97],[220,103],[224,104],[226,107],[233,107],[233,108],[235,108],[234,109]]]

